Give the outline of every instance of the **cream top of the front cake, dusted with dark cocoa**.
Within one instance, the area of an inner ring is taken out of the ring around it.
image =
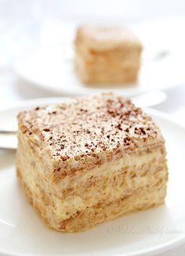
[[[119,147],[133,150],[160,135],[151,117],[129,99],[111,93],[37,107],[21,112],[18,120],[22,132],[63,161]]]

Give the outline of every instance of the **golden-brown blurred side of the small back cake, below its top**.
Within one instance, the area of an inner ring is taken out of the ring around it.
[[[140,69],[140,50],[96,52],[76,46],[75,63],[85,83],[134,83]]]

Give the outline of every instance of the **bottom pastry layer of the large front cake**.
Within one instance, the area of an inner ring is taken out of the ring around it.
[[[20,176],[17,169],[17,176],[20,184],[24,188],[27,198],[34,206],[34,209],[41,214],[45,224],[49,228],[54,228],[62,232],[80,232],[88,228],[93,228],[94,225],[103,222],[111,221],[117,217],[121,217],[125,213],[135,212],[138,210],[146,210],[154,206],[162,204],[166,195],[166,184],[160,184],[147,191],[136,191],[136,195],[123,196],[111,203],[97,204],[89,209],[77,211],[73,216],[66,220],[60,219],[56,221],[54,215],[48,215],[48,203],[38,201],[34,198],[34,194],[30,191],[27,184]],[[41,195],[36,195],[36,198],[43,198]]]

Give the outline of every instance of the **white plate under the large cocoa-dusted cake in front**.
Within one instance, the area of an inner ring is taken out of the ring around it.
[[[40,102],[32,102],[38,105]],[[42,100],[43,103],[43,100]],[[16,113],[0,112],[1,124],[15,124]],[[49,230],[27,202],[15,175],[15,154],[0,151],[0,254],[8,255],[143,255],[185,242],[184,155],[185,128],[163,113],[148,109],[166,139],[169,187],[165,205],[99,224],[80,233]]]

